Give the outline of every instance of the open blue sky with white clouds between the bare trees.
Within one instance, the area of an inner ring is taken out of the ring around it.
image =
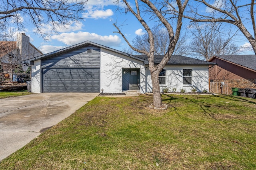
[[[44,41],[39,35],[33,32],[33,27],[28,27],[23,32],[30,37],[30,42],[40,49],[43,53],[49,53],[75,45],[84,41],[93,41],[101,45],[121,50],[128,47],[127,43],[118,33],[116,28],[112,25],[113,22],[118,21],[118,24],[124,24],[122,32],[127,39],[132,41],[137,35],[143,35],[142,25],[132,14],[124,14],[116,11],[117,6],[114,3],[116,0],[88,0],[86,5],[86,12],[82,14],[84,21],[66,25],[66,28],[59,28],[59,34],[50,35],[49,41]],[[218,0],[220,1],[220,0]],[[134,1],[131,1],[134,2]],[[122,6],[122,4],[120,4]],[[134,3],[132,4],[134,6]],[[207,8],[203,8],[208,12]],[[189,21],[183,21],[182,30],[185,31]],[[48,32],[51,25],[44,25],[43,30]],[[187,31],[186,31],[187,32]],[[187,43],[190,42],[188,37]],[[243,35],[239,37],[236,42],[239,46],[250,45]],[[241,54],[254,54],[252,51],[243,51]]]

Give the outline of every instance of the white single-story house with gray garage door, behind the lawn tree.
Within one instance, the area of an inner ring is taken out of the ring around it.
[[[162,56],[155,56],[155,63]],[[24,61],[32,66],[31,90],[40,92],[152,92],[148,60],[85,41]],[[172,56],[160,73],[160,86],[209,89],[208,67],[214,63]]]

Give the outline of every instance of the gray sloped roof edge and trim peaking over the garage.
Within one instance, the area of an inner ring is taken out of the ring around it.
[[[66,47],[64,49],[60,49],[60,50],[57,50],[57,51],[53,51],[51,53],[47,53],[47,54],[44,54],[44,55],[40,55],[38,57],[34,57],[32,59],[28,59],[28,60],[24,60],[23,63],[30,63],[30,61],[37,61],[37,60],[42,60],[42,59],[47,59],[47,58],[50,58],[50,57],[54,57],[54,56],[57,56],[57,55],[60,55],[60,54],[63,54],[63,53],[67,53],[67,52],[70,52],[70,51],[73,51],[75,49],[80,49],[82,47],[86,47],[88,45],[93,45],[95,47],[99,47],[99,48],[103,48],[103,49],[107,49],[109,51],[112,51],[112,52],[115,52],[115,53],[118,53],[118,54],[121,54],[121,55],[125,55],[127,57],[130,57],[132,59],[136,59],[138,61],[142,61],[142,62],[146,62],[144,59],[141,59],[141,58],[138,58],[134,55],[130,55],[128,53],[124,53],[122,51],[118,51],[118,50],[115,50],[115,49],[112,49],[110,47],[106,47],[104,45],[100,45],[100,44],[97,44],[97,43],[93,43],[91,41],[84,41],[82,43],[79,43],[79,44],[76,44],[76,45],[72,45],[70,47]]]

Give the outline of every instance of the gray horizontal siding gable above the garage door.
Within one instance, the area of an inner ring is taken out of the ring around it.
[[[88,53],[92,49],[92,53]],[[42,68],[100,68],[100,48],[88,45],[54,57],[42,59]]]

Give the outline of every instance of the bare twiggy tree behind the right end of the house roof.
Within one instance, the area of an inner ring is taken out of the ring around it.
[[[198,59],[208,61],[214,55],[235,55],[240,52],[240,47],[232,42],[236,33],[231,35],[231,31],[225,32],[220,23],[194,23],[190,28],[193,35],[190,50]]]

